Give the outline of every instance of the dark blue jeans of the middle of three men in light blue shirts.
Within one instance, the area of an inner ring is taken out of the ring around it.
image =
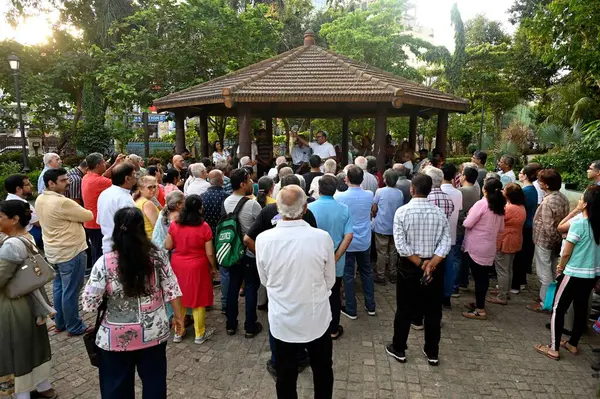
[[[371,267],[371,250],[360,252],[346,252],[346,265],[344,267],[344,292],[346,293],[346,312],[355,316],[356,290],[354,287],[354,264],[358,264],[358,273],[362,281],[363,295],[365,296],[365,307],[367,310],[375,311],[375,287],[373,285],[373,268]]]

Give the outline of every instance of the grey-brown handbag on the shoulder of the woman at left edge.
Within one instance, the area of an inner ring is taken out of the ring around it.
[[[27,258],[8,280],[4,292],[10,299],[27,295],[54,279],[54,269],[46,262],[38,248],[22,237],[19,239],[27,248]],[[6,241],[6,240],[5,240]]]

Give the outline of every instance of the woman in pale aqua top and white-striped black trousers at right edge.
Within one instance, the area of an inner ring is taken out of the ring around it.
[[[583,217],[567,216],[560,223],[570,223],[571,227],[557,267],[560,285],[552,309],[551,343],[535,346],[538,352],[554,360],[560,359],[560,347],[573,354],[579,352],[577,344],[586,327],[588,298],[600,276],[600,186],[588,187],[579,201]],[[575,316],[573,332],[570,340],[561,340],[565,313],[571,303]]]

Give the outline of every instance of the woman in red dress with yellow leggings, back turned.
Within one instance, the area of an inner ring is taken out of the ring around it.
[[[171,265],[183,293],[181,304],[192,309],[196,344],[203,344],[215,332],[213,328],[206,328],[205,321],[206,307],[213,305],[212,278],[217,274],[217,260],[212,230],[204,221],[202,211],[202,198],[195,194],[188,196],[165,240],[165,249],[173,250]],[[181,342],[183,335],[176,333],[173,342]]]

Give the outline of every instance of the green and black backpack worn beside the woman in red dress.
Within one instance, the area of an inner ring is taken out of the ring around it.
[[[233,212],[224,215],[217,225],[215,250],[220,266],[231,267],[239,263],[244,256],[246,246],[238,215],[247,201],[248,197],[242,197]],[[223,213],[225,213],[225,208],[223,208]]]

